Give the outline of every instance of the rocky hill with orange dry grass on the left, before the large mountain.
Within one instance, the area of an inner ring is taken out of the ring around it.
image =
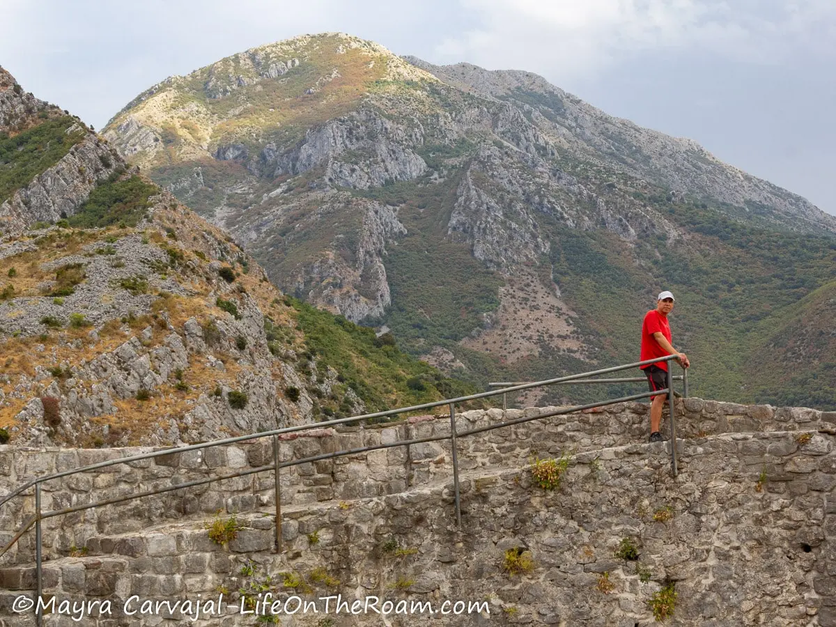
[[[284,296],[3,69],[0,122],[0,443],[205,441],[461,391]]]

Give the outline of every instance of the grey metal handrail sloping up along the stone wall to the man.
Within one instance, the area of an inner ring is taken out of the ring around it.
[[[281,547],[282,547],[282,537],[281,537],[282,520],[281,520],[281,509],[280,509],[280,507],[281,507],[281,494],[280,494],[280,486],[279,486],[278,476],[279,476],[279,470],[281,468],[286,468],[286,467],[290,467],[290,466],[298,466],[300,464],[310,463],[310,462],[313,462],[313,461],[322,461],[322,460],[325,460],[325,459],[333,459],[334,457],[339,457],[339,456],[357,455],[359,453],[366,452],[366,451],[376,451],[376,450],[381,450],[381,449],[386,449],[386,448],[392,448],[392,447],[395,447],[395,446],[411,446],[411,445],[414,445],[414,444],[421,444],[421,443],[431,442],[431,441],[443,441],[443,440],[450,440],[451,441],[451,451],[452,451],[452,461],[453,461],[453,479],[454,479],[455,503],[456,503],[456,523],[457,523],[458,527],[461,528],[461,502],[460,502],[460,497],[459,497],[458,453],[457,453],[457,446],[456,446],[456,438],[458,436],[471,436],[471,435],[475,435],[477,433],[482,433],[483,431],[492,431],[493,429],[501,429],[503,427],[517,425],[517,424],[520,424],[520,423],[523,423],[523,422],[541,420],[543,418],[549,418],[549,417],[553,417],[555,415],[568,414],[568,413],[572,413],[574,411],[592,409],[594,407],[603,407],[603,406],[606,406],[606,405],[614,405],[615,403],[625,402],[625,401],[629,401],[629,400],[639,400],[639,399],[648,398],[650,396],[661,395],[661,394],[667,394],[668,395],[668,400],[670,402],[670,408],[671,408],[671,412],[670,412],[671,470],[672,470],[673,474],[676,475],[678,470],[677,470],[677,466],[676,466],[676,453],[675,453],[676,446],[675,446],[675,416],[674,416],[674,413],[673,413],[673,380],[684,380],[685,391],[686,391],[686,395],[687,395],[687,378],[684,375],[683,376],[672,376],[672,375],[670,375],[670,369],[668,370],[668,374],[667,374],[667,377],[668,377],[667,385],[668,386],[667,386],[667,388],[665,388],[665,390],[655,390],[653,392],[645,392],[645,393],[642,393],[642,394],[623,396],[623,397],[620,397],[618,399],[599,401],[599,402],[590,403],[590,404],[587,404],[587,405],[575,405],[575,406],[572,406],[572,407],[564,407],[564,408],[561,408],[559,410],[554,410],[552,412],[549,412],[547,414],[540,414],[540,415],[530,416],[530,417],[523,416],[521,418],[517,418],[517,419],[514,419],[514,420],[510,420],[510,421],[509,420],[503,420],[502,422],[499,422],[499,423],[494,424],[494,425],[482,426],[482,427],[478,427],[476,429],[471,429],[469,431],[456,432],[456,411],[455,411],[456,403],[466,402],[468,400],[477,400],[477,399],[487,398],[487,397],[496,396],[496,395],[500,395],[500,394],[502,394],[503,398],[504,398],[504,395],[507,395],[509,392],[516,392],[516,391],[519,391],[519,390],[528,390],[528,389],[531,389],[531,388],[534,388],[534,387],[542,387],[542,386],[546,386],[546,385],[558,385],[558,384],[564,384],[564,383],[590,383],[590,382],[608,383],[610,381],[621,382],[621,380],[588,380],[588,379],[584,379],[584,378],[589,377],[589,376],[594,376],[594,375],[605,375],[605,374],[608,374],[610,372],[617,372],[619,370],[628,370],[630,368],[635,368],[635,367],[640,367],[640,366],[650,365],[650,364],[656,364],[656,363],[659,363],[659,362],[670,362],[670,360],[672,360],[672,359],[675,359],[674,355],[668,355],[666,357],[660,357],[660,358],[657,358],[657,359],[645,359],[644,361],[635,362],[633,364],[624,364],[624,365],[619,365],[619,366],[613,366],[611,368],[604,368],[604,369],[601,369],[601,370],[594,370],[594,371],[591,371],[591,372],[581,373],[579,375],[568,375],[568,376],[558,377],[558,378],[555,378],[555,379],[549,379],[549,380],[543,380],[543,381],[534,381],[534,382],[531,382],[531,383],[513,384],[513,385],[510,385],[509,387],[502,388],[501,390],[492,390],[492,391],[487,391],[487,392],[480,392],[480,393],[473,394],[473,395],[459,396],[459,397],[456,397],[456,398],[453,398],[453,399],[437,400],[437,401],[433,401],[431,403],[424,403],[424,404],[421,404],[421,405],[410,405],[409,407],[401,407],[401,408],[398,408],[398,409],[395,409],[395,410],[385,410],[385,411],[379,411],[379,412],[375,412],[375,413],[371,413],[371,414],[351,416],[351,417],[348,417],[348,418],[339,418],[339,419],[335,419],[335,420],[332,420],[332,421],[315,422],[315,423],[309,423],[309,424],[306,424],[306,425],[283,427],[281,429],[275,429],[273,431],[264,431],[262,433],[248,434],[246,436],[236,436],[236,437],[231,437],[231,438],[224,438],[224,439],[221,439],[221,440],[201,442],[199,444],[193,444],[193,445],[189,445],[189,446],[173,446],[173,447],[168,447],[168,448],[165,448],[165,449],[161,449],[159,451],[150,451],[148,453],[141,453],[139,455],[118,457],[118,458],[112,459],[112,460],[100,461],[100,462],[95,463],[95,464],[89,464],[88,466],[82,466],[82,467],[79,467],[79,468],[74,468],[74,469],[70,469],[70,470],[67,470],[67,471],[63,471],[63,472],[54,472],[54,473],[49,474],[45,477],[36,477],[36,478],[24,483],[22,486],[18,487],[17,489],[13,490],[13,492],[9,492],[2,499],[0,499],[0,507],[3,507],[3,505],[5,503],[9,502],[14,497],[17,497],[20,494],[22,494],[23,492],[27,491],[30,487],[35,488],[35,509],[36,509],[35,514],[33,515],[33,517],[30,517],[28,519],[28,521],[23,525],[23,528],[20,529],[18,531],[18,533],[15,534],[15,536],[12,538],[12,540],[9,541],[9,543],[2,550],[0,550],[0,557],[2,557],[8,551],[8,549],[13,546],[14,543],[17,543],[18,539],[23,536],[23,533],[25,533],[34,524],[35,525],[35,533],[36,533],[36,568],[37,568],[37,581],[38,581],[38,596],[40,596],[40,594],[43,591],[43,589],[42,589],[43,573],[42,573],[42,555],[41,555],[41,548],[42,548],[41,521],[43,521],[43,519],[50,518],[50,517],[58,517],[58,516],[62,516],[64,514],[72,513],[72,512],[80,512],[80,511],[84,511],[86,509],[92,509],[94,507],[104,507],[105,505],[113,505],[113,504],[119,503],[119,502],[130,501],[130,500],[133,500],[135,498],[142,498],[142,497],[153,496],[153,495],[156,495],[156,494],[163,494],[163,493],[166,493],[166,492],[173,492],[175,490],[181,490],[181,489],[185,489],[185,488],[188,488],[188,487],[196,487],[196,486],[199,486],[199,485],[204,485],[206,483],[220,482],[220,481],[224,481],[225,479],[231,479],[231,478],[235,478],[235,477],[245,477],[247,475],[252,475],[252,474],[259,473],[259,472],[269,472],[269,471],[273,471],[274,474],[275,474],[275,487],[274,487],[275,499],[276,499],[276,502],[275,502],[275,507],[276,507],[275,545],[276,545],[276,550],[280,552],[282,550],[281,549]],[[685,370],[685,372],[687,372],[687,370]],[[639,380],[639,381],[641,381],[641,380],[644,380],[644,379],[630,378],[629,380]],[[374,446],[364,446],[364,447],[348,449],[348,450],[344,450],[344,451],[334,451],[334,452],[330,452],[330,453],[324,453],[322,455],[310,456],[310,457],[306,457],[306,458],[298,459],[298,460],[291,460],[291,461],[285,461],[285,462],[279,462],[278,461],[279,437],[283,436],[285,434],[293,433],[293,432],[297,432],[297,431],[313,431],[313,430],[327,428],[327,427],[330,427],[330,426],[344,425],[344,424],[349,423],[349,422],[356,422],[356,421],[366,420],[366,419],[370,419],[370,418],[379,418],[379,417],[384,417],[384,416],[389,416],[389,415],[404,414],[404,413],[407,413],[407,412],[410,412],[410,411],[431,409],[431,408],[434,408],[434,407],[439,407],[441,405],[449,405],[450,406],[451,433],[450,433],[449,436],[430,436],[430,437],[418,438],[418,439],[408,440],[408,441],[397,441],[397,442],[390,442],[390,443],[387,443],[387,444],[382,444],[381,443],[379,445],[374,445]],[[503,405],[504,405],[504,401],[503,401]],[[168,456],[168,455],[172,455],[172,454],[176,454],[176,453],[182,453],[182,452],[186,452],[186,451],[196,451],[196,450],[209,448],[209,447],[214,447],[214,446],[226,446],[228,444],[235,444],[237,442],[242,442],[242,441],[258,440],[258,439],[261,439],[261,438],[264,438],[264,437],[271,437],[273,439],[273,464],[270,464],[270,465],[267,465],[267,466],[258,466],[257,468],[249,468],[246,471],[234,472],[232,474],[214,475],[212,477],[206,477],[204,479],[199,479],[199,480],[192,481],[192,482],[180,483],[180,484],[176,484],[174,486],[159,487],[159,488],[155,488],[154,490],[150,490],[150,491],[146,491],[146,492],[134,492],[134,493],[122,496],[122,497],[115,497],[115,498],[105,499],[103,501],[93,502],[93,503],[86,503],[84,505],[79,505],[79,506],[74,506],[74,507],[65,507],[64,509],[61,509],[61,510],[54,510],[54,511],[50,511],[50,512],[42,512],[42,510],[41,510],[41,503],[40,503],[40,501],[41,501],[41,499],[40,499],[41,485],[45,482],[53,481],[54,479],[59,479],[61,477],[69,477],[69,476],[72,476],[74,474],[79,474],[81,472],[90,472],[90,471],[94,471],[94,470],[97,470],[99,468],[104,468],[104,467],[107,467],[107,466],[115,466],[115,464],[130,463],[132,461],[141,461],[141,460],[145,460],[145,459],[151,459],[151,458],[160,457],[160,456]],[[41,624],[41,621],[42,621],[43,617],[42,617],[42,615],[39,611],[38,611],[37,619],[38,619],[38,624]]]

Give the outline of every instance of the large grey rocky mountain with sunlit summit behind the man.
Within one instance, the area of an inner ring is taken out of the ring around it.
[[[798,364],[766,347],[833,281],[836,218],[695,142],[349,35],[166,79],[104,135],[288,293],[479,383],[634,360],[665,287],[697,393],[782,402]],[[836,388],[834,342],[802,391]]]

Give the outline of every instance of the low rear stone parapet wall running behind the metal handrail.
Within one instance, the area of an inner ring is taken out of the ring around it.
[[[507,420],[543,415],[558,408],[507,410]],[[646,440],[649,405],[619,403],[605,410],[553,416],[542,421],[507,426],[458,441],[462,473],[482,472],[492,466],[522,468],[533,456],[559,456],[563,452],[592,451]],[[735,405],[701,399],[679,400],[677,434],[700,438],[742,431],[797,431],[828,428],[833,412],[769,405]],[[667,432],[667,413],[663,432]],[[502,410],[473,410],[456,415],[456,431],[502,422]],[[432,436],[449,436],[449,415],[416,416],[399,423],[340,427],[283,436],[282,461],[318,456],[380,443]],[[699,441],[699,440],[698,440]],[[151,451],[143,447],[111,449],[20,448],[0,446],[0,494],[28,479],[99,461]],[[134,461],[74,475],[43,485],[43,511],[144,492],[201,478],[232,474],[273,462],[272,443],[265,439],[202,451],[174,452],[169,456]],[[332,499],[379,497],[405,492],[452,478],[449,441],[395,447],[334,460],[290,466],[281,472],[283,505],[309,505]],[[29,491],[30,495],[33,491]],[[219,510],[250,512],[275,502],[270,472],[144,497],[118,506],[96,508],[44,523],[44,544],[56,553],[81,547],[100,533],[125,533],[188,515],[212,515]],[[32,515],[33,496],[18,497],[0,508],[0,543],[5,544]],[[29,534],[31,535],[31,534]],[[0,563],[27,561],[32,546],[27,538]]]

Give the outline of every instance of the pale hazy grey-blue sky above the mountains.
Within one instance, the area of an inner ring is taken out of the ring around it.
[[[0,0],[0,65],[100,129],[229,54],[343,31],[543,74],[836,214],[836,0]]]

